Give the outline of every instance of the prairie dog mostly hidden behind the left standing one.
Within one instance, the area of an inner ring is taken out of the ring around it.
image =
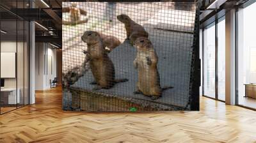
[[[100,37],[102,38],[104,47],[108,52],[111,52],[115,47],[118,47],[118,45],[121,44],[121,41],[119,41],[115,36],[100,33]]]

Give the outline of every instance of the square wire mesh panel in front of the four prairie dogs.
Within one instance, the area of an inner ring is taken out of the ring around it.
[[[190,110],[196,2],[62,4],[64,110]]]

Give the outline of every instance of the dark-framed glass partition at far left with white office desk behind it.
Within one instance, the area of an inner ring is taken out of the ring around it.
[[[0,4],[26,8],[28,2],[0,1]],[[3,8],[0,11],[10,13]],[[13,14],[6,15],[0,15],[0,114],[29,103],[29,22]]]

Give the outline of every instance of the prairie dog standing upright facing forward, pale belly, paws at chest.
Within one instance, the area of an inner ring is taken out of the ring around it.
[[[165,87],[161,89],[159,72],[157,70],[158,57],[150,40],[146,37],[139,37],[134,41],[137,49],[136,58],[133,62],[134,68],[138,70],[137,90],[135,94],[150,96],[152,100],[161,97]]]

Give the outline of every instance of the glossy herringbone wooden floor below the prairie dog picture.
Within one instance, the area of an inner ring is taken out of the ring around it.
[[[0,116],[0,142],[256,142],[256,112],[200,98],[200,112],[61,110],[61,89]]]

